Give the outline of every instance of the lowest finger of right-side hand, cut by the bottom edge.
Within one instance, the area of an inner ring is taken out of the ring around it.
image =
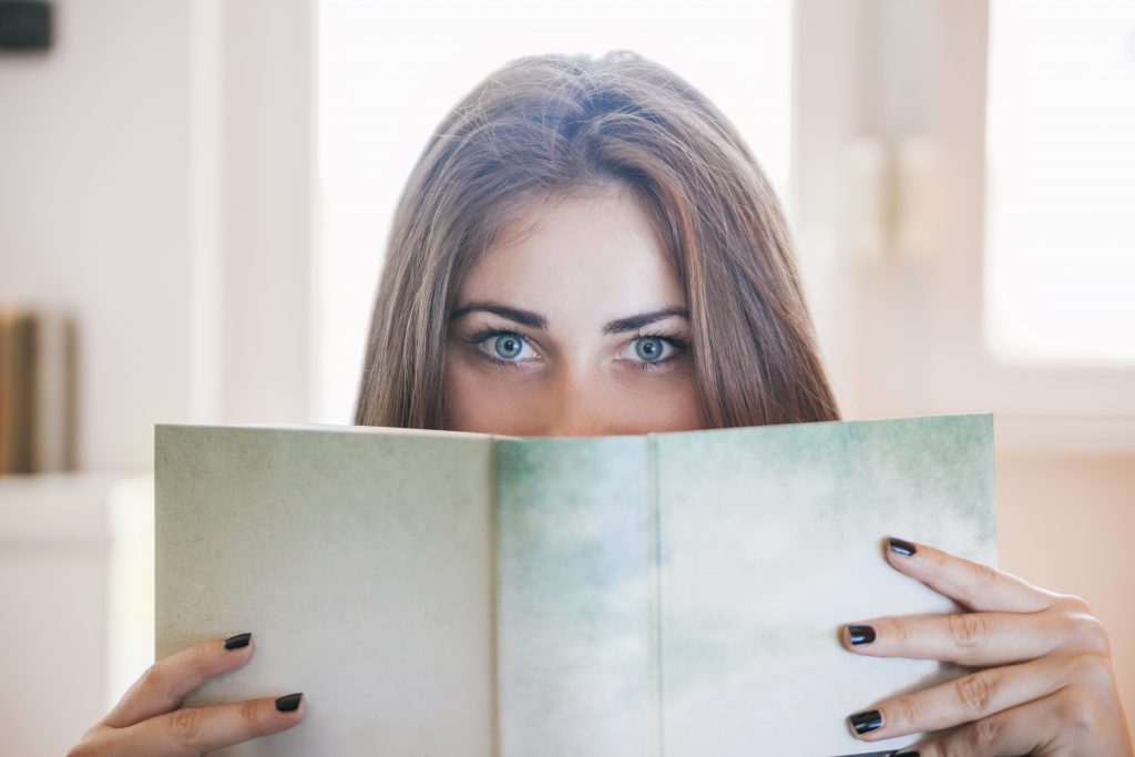
[[[1081,754],[1045,749],[1059,740],[1060,723],[1081,709],[1068,689],[970,723],[916,749],[920,757],[1014,757],[1032,754]],[[1044,750],[1044,751],[1042,751]],[[902,752],[899,752],[902,754]]]

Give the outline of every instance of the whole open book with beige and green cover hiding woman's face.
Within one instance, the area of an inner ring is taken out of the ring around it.
[[[962,672],[844,650],[955,605],[884,538],[995,561],[987,414],[597,438],[157,428],[163,657],[252,631],[192,704],[303,691],[226,755],[864,754],[844,718]]]

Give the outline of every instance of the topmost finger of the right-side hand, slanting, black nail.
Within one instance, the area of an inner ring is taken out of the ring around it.
[[[900,572],[969,609],[1035,613],[1059,599],[1016,575],[903,539],[888,540],[886,560]]]

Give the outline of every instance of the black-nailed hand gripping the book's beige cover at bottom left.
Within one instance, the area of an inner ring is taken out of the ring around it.
[[[252,634],[241,633],[154,663],[68,757],[196,757],[299,725],[306,710],[299,693],[182,708],[190,691],[244,665],[252,649]]]

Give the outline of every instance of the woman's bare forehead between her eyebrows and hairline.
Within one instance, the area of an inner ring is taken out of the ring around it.
[[[649,217],[625,190],[541,203],[502,236],[506,242],[463,281],[461,300],[532,310],[552,328],[563,319],[606,321],[686,306]]]

